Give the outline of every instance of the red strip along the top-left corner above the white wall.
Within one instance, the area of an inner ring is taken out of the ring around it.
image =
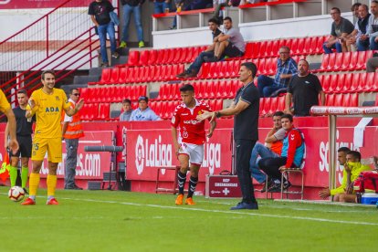
[[[0,9],[55,8],[66,1],[62,0],[0,0]],[[89,6],[91,0],[71,1],[69,7]]]

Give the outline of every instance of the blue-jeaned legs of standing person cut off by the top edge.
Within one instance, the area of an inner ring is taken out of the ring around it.
[[[143,27],[142,27],[142,18],[141,18],[141,10],[142,4],[144,0],[121,0],[121,4],[123,5],[123,30],[122,30],[122,38],[121,38],[121,45],[120,47],[127,47],[127,41],[129,40],[129,25],[130,25],[130,18],[131,13],[134,14],[134,23],[135,28],[137,31],[137,37],[139,44],[138,46],[144,47],[143,41]]]

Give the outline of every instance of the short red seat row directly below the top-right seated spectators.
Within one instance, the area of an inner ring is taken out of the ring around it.
[[[366,68],[366,61],[373,57],[373,51],[324,54],[320,72],[355,71]]]

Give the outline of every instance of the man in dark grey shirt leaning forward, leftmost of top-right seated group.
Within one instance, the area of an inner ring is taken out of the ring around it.
[[[332,49],[337,52],[346,52],[346,37],[348,37],[354,30],[354,26],[348,19],[341,17],[340,9],[337,7],[331,8],[331,17],[333,23],[331,26],[331,36],[323,44],[324,53],[332,53]]]

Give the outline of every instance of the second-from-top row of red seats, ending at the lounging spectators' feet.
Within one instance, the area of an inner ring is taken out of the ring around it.
[[[88,85],[111,85],[175,80],[184,71],[184,64],[135,68],[104,68],[101,79]]]

